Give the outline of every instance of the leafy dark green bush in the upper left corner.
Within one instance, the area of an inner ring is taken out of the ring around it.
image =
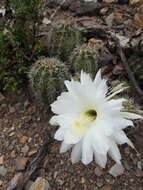
[[[29,66],[42,55],[37,39],[43,0],[5,0],[4,27],[0,30],[0,90],[15,90],[26,81]],[[11,11],[10,11],[11,10]]]

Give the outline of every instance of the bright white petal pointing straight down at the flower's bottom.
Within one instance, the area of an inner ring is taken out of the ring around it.
[[[82,144],[82,162],[87,165],[93,160],[93,149],[89,138],[83,139]]]

